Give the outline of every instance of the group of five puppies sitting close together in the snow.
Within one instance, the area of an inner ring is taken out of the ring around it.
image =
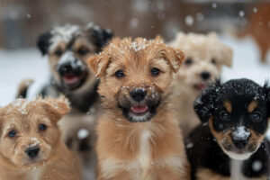
[[[38,47],[50,83],[27,100],[23,82],[0,109],[0,179],[269,176],[270,86],[216,81],[232,64],[216,34],[165,43],[90,23],[53,28]]]

